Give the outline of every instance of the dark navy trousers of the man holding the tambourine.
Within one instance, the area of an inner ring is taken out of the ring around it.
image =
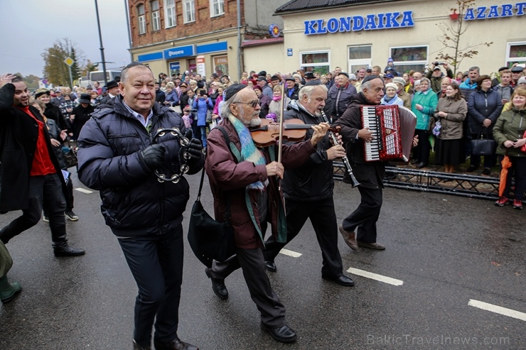
[[[168,234],[119,239],[119,244],[139,288],[135,341],[150,345],[154,319],[155,339],[176,339],[183,282],[183,227],[179,225]]]

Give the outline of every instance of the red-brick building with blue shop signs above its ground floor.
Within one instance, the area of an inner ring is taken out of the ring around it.
[[[154,74],[192,71],[239,79],[244,45],[265,45],[285,0],[128,0],[132,58]]]

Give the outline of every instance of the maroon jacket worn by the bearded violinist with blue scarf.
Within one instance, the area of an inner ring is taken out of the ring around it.
[[[230,141],[241,150],[240,138],[228,119],[220,122]],[[272,235],[278,241],[286,241],[286,218],[283,195],[278,190],[276,177],[267,177],[265,165],[254,165],[249,161],[237,163],[227,141],[218,128],[208,134],[208,155],[205,170],[214,197],[215,219],[224,221],[226,196],[230,195],[230,213],[234,229],[235,244],[238,248],[253,249],[263,247],[263,234],[257,210],[257,190],[246,190],[247,185],[256,181],[269,180],[267,185],[267,219],[272,227]],[[283,146],[281,160],[285,169],[303,164],[311,153],[316,151],[310,141]],[[277,159],[277,146],[263,148],[267,164]]]

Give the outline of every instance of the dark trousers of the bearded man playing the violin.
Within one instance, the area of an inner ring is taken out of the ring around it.
[[[236,254],[222,263],[213,261],[210,275],[225,279],[238,268],[242,268],[243,277],[250,293],[261,313],[261,322],[277,328],[285,324],[285,307],[272,290],[269,277],[265,272],[263,251],[261,248],[236,249]]]

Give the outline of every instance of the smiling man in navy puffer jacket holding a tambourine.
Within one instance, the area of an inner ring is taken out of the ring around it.
[[[155,102],[155,78],[149,67],[124,67],[114,104],[104,104],[82,127],[78,139],[80,181],[100,191],[102,215],[117,236],[139,287],[135,306],[134,349],[150,349],[155,322],[156,349],[188,349],[177,336],[183,278],[183,212],[190,196],[188,182],[159,182],[154,170],[179,173],[181,146],[166,133],[154,143],[159,128],[186,133],[176,112]],[[200,141],[182,151],[190,154],[188,174],[203,168]]]

